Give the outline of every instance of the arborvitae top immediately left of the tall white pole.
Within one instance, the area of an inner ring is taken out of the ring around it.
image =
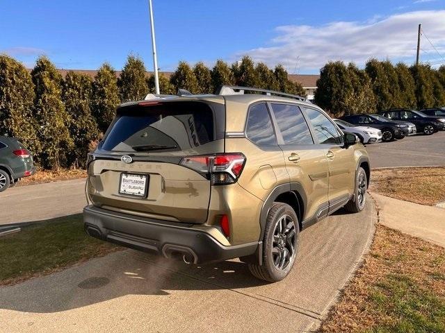
[[[147,95],[145,67],[142,59],[128,56],[118,80],[121,101],[138,101]]]

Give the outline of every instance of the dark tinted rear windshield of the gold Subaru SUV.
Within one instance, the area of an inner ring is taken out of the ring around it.
[[[222,139],[224,128],[218,126],[218,107],[223,108],[202,102],[166,102],[120,108],[101,148],[184,151]]]

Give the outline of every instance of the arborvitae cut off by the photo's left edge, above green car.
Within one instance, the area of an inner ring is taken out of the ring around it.
[[[34,96],[33,81],[24,65],[0,55],[0,135],[19,138],[38,155],[41,146],[32,113]]]

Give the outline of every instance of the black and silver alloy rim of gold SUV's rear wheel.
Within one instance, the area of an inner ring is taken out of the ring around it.
[[[296,224],[285,214],[278,219],[273,230],[272,258],[275,268],[286,269],[295,259],[297,246]]]

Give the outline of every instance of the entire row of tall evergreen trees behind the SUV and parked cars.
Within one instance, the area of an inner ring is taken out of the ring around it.
[[[339,117],[385,108],[429,108],[445,105],[445,65],[407,67],[371,59],[364,69],[355,64],[328,62],[320,73],[314,102]],[[282,65],[271,69],[245,56],[213,68],[203,62],[191,68],[179,62],[170,76],[159,74],[161,94],[187,89],[211,94],[220,85],[245,85],[305,96],[300,83],[289,80]],[[154,76],[143,61],[130,55],[118,78],[104,63],[94,78],[70,71],[65,78],[45,57],[29,71],[13,58],[0,55],[0,135],[15,136],[35,154],[43,168],[85,167],[91,146],[105,133],[122,101],[154,93]]]

